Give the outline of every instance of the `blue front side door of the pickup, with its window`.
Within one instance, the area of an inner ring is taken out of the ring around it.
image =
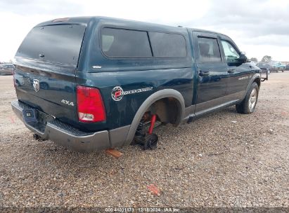
[[[228,85],[226,95],[229,101],[241,99],[247,88],[252,66],[248,63],[240,63],[240,50],[227,36],[220,36],[221,53],[228,67]]]

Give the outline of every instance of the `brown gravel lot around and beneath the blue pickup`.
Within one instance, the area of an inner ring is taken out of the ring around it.
[[[289,72],[269,78],[254,114],[167,125],[157,150],[115,159],[33,140],[11,110],[12,76],[0,76],[0,207],[289,207]]]

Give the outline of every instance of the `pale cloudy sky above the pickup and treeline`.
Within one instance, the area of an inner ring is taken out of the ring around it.
[[[208,29],[231,37],[249,58],[289,62],[289,0],[1,0],[0,62],[13,59],[38,23],[90,15]]]

